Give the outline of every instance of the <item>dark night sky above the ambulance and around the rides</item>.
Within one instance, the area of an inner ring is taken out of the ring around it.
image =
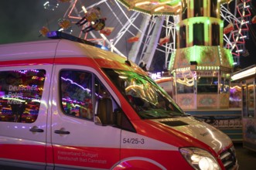
[[[57,20],[63,18],[69,3],[60,3],[55,11],[43,8],[46,0],[1,0],[0,6],[0,44],[46,39],[39,37],[43,26],[50,30],[58,29]],[[255,15],[256,0],[252,14]],[[256,64],[256,24],[251,25],[250,39],[246,40],[249,56],[241,56],[241,68]]]

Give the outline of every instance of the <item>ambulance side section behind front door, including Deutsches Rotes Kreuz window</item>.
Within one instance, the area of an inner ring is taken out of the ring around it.
[[[3,73],[9,73],[6,75]],[[0,69],[0,161],[12,166],[46,166],[46,119],[52,66]],[[11,76],[15,79],[9,80]],[[19,77],[19,78],[18,78]],[[1,163],[0,163],[1,164]],[[0,165],[1,166],[1,165]]]

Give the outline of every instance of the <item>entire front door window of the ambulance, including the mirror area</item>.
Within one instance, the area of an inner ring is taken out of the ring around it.
[[[135,131],[111,93],[93,73],[61,70],[60,100],[64,114]]]

